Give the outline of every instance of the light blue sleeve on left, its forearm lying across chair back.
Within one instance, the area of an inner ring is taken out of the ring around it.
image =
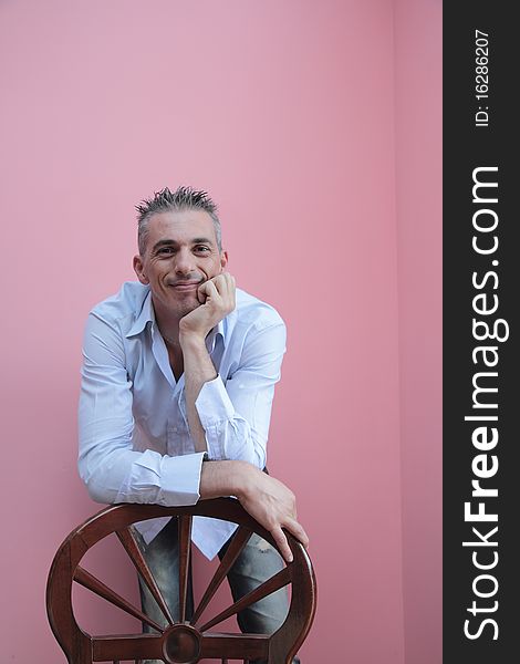
[[[116,324],[91,313],[83,344],[79,471],[97,502],[194,505],[204,454],[163,456],[132,447],[132,381]]]

